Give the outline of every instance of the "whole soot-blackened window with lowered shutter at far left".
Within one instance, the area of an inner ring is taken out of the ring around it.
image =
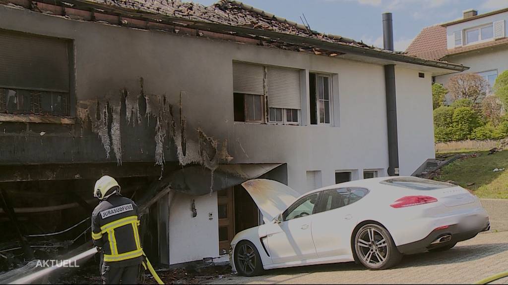
[[[0,30],[0,112],[70,115],[70,42]]]

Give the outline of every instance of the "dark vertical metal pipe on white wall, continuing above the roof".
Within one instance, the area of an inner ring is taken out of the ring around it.
[[[383,46],[393,51],[392,13],[383,13]],[[395,94],[395,64],[385,65],[386,114],[388,124],[388,175],[399,175],[399,145],[397,135],[397,98]]]

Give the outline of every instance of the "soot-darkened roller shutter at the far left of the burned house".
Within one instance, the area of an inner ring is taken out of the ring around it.
[[[0,86],[69,92],[68,43],[0,31]]]

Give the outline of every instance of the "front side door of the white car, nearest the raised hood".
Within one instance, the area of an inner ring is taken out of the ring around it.
[[[267,230],[267,242],[273,263],[309,260],[317,257],[312,240],[312,218],[318,193],[309,194],[282,213],[282,221]]]

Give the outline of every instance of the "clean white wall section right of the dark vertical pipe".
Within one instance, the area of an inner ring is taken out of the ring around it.
[[[425,160],[434,158],[432,76],[395,68],[400,175],[411,175]]]

